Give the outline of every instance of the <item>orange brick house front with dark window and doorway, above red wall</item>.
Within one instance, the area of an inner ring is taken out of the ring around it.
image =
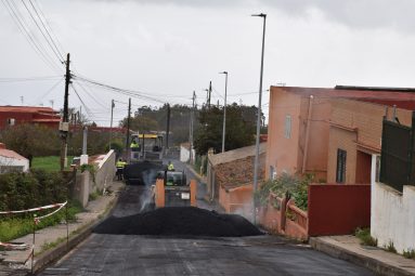
[[[405,95],[392,96],[389,105],[384,105],[387,101],[377,104],[345,98],[330,100],[327,163],[329,183],[371,184],[372,162],[377,162],[378,174],[384,116],[388,120],[395,117],[401,124],[411,127],[412,109],[415,109],[415,102],[406,101]]]

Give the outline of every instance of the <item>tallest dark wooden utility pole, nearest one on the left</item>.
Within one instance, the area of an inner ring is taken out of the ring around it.
[[[69,97],[69,83],[70,83],[70,69],[69,69],[69,63],[70,63],[70,54],[68,53],[66,56],[66,74],[65,74],[65,96],[64,96],[64,114],[63,119],[60,124],[60,131],[61,131],[61,171],[64,170],[65,163],[66,163],[66,154],[67,154],[67,133],[69,131],[69,123],[68,123],[68,97]]]

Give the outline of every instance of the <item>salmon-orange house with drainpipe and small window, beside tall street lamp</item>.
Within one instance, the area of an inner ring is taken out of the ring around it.
[[[271,87],[265,175],[314,173],[327,181],[333,98],[411,106],[412,89]],[[333,126],[334,127],[334,126]],[[363,146],[363,145],[362,145]],[[364,157],[363,157],[364,158]],[[330,162],[332,163],[332,162]],[[332,163],[333,165],[333,163]]]

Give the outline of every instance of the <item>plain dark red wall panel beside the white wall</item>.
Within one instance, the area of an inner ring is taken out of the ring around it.
[[[352,234],[371,225],[371,185],[309,186],[309,236]]]

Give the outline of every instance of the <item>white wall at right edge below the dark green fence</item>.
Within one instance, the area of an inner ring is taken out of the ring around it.
[[[372,161],[371,235],[378,247],[393,242],[398,252],[415,250],[415,186],[404,186],[400,193],[375,181]]]

